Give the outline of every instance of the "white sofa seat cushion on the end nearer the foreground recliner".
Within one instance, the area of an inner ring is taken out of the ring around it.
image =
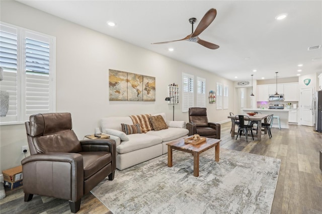
[[[118,153],[128,153],[162,143],[161,137],[147,134],[132,134],[128,135],[128,138],[129,141],[123,141],[118,147],[116,147],[116,151]]]

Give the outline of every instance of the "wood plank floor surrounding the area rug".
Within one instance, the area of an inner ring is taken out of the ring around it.
[[[271,213],[322,213],[322,172],[319,169],[319,150],[322,133],[312,127],[290,125],[289,129],[272,128],[273,137],[262,136],[253,141],[245,136],[231,138],[231,123],[221,125],[221,148],[264,155],[282,160]],[[117,177],[115,177],[117,179]],[[34,195],[24,202],[22,188],[6,191],[0,200],[1,213],[70,213],[68,201]],[[93,194],[82,198],[77,213],[112,213]]]

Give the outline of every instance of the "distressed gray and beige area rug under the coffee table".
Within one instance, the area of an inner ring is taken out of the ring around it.
[[[113,213],[270,213],[281,160],[220,148],[200,155],[199,177],[193,156],[174,151],[116,171],[92,193]]]

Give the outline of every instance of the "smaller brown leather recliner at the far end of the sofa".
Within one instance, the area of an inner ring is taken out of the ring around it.
[[[206,108],[189,108],[189,123],[186,128],[189,135],[220,139],[220,124],[208,122]]]

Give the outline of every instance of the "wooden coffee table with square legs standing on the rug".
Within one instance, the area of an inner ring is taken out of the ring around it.
[[[189,136],[192,137],[192,136]],[[219,162],[219,142],[220,139],[207,138],[206,142],[193,145],[185,143],[185,139],[181,138],[167,143],[168,145],[168,166],[172,167],[172,150],[179,150],[182,152],[187,152],[193,154],[193,175],[199,176],[199,154],[207,151],[210,148],[215,147],[215,161]]]

